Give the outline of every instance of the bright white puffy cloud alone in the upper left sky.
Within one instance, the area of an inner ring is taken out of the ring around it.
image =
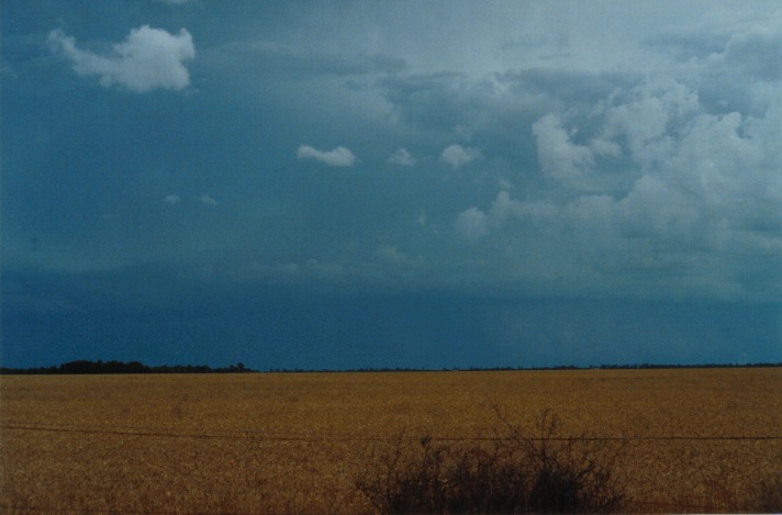
[[[107,88],[116,86],[144,93],[155,89],[182,90],[190,85],[185,64],[196,57],[196,47],[185,29],[178,34],[149,25],[133,29],[109,56],[79,49],[76,40],[60,30],[52,31],[48,41],[55,52],[71,61],[78,75],[97,76]]]

